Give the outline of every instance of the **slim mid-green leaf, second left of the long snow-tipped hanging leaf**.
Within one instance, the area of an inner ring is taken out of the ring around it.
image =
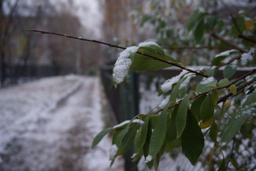
[[[144,124],[141,128],[141,135],[139,137],[138,145],[135,146],[135,150],[134,150],[135,154],[140,152],[141,148],[143,148],[143,145],[145,143],[147,132],[148,132],[148,122],[149,122],[149,119],[150,119],[150,116],[151,116],[150,114],[152,113],[152,111],[153,110],[150,110],[150,112],[148,112],[148,114],[145,118]]]

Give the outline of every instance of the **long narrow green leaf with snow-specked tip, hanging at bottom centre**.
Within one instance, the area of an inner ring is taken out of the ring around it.
[[[149,142],[149,149],[148,149],[148,156],[151,156],[151,159],[154,159],[154,157],[160,151],[161,146],[163,145],[163,142],[166,136],[167,118],[168,118],[168,105],[161,112],[160,117],[157,121],[157,125],[154,128],[154,131],[151,135],[151,139]]]

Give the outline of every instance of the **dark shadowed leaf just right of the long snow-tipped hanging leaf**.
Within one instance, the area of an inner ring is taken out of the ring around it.
[[[167,130],[166,130],[166,140],[167,142],[171,142],[173,139],[176,139],[177,137],[177,129],[176,129],[176,116],[180,105],[176,105],[172,116],[169,119],[169,122],[167,124]]]

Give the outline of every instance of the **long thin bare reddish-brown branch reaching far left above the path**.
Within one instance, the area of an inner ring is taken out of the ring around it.
[[[105,44],[105,45],[108,45],[108,46],[111,46],[111,47],[116,47],[116,48],[119,48],[119,49],[126,49],[126,47],[122,47],[122,46],[116,46],[116,45],[113,45],[111,43],[105,43],[105,42],[102,42],[102,41],[96,41],[96,40],[89,40],[89,39],[85,39],[85,38],[80,38],[80,37],[74,37],[74,36],[70,36],[70,35],[63,35],[63,34],[60,34],[60,33],[55,33],[55,32],[45,32],[45,31],[39,31],[39,30],[35,30],[35,29],[32,29],[32,30],[26,30],[27,32],[39,32],[39,33],[42,33],[42,34],[50,34],[50,35],[59,35],[59,36],[64,36],[64,37],[67,37],[67,38],[73,38],[73,39],[79,39],[81,41],[90,41],[90,42],[94,42],[94,43],[100,43],[100,44]],[[151,56],[151,55],[148,55],[148,54],[144,54],[142,52],[137,52],[138,54],[140,55],[144,55],[144,56],[147,56],[149,58],[152,58],[156,61],[161,61],[161,62],[164,62],[166,64],[170,64],[170,65],[173,65],[175,67],[178,67],[178,68],[181,68],[183,70],[187,70],[189,72],[192,72],[192,73],[195,73],[196,75],[201,75],[203,77],[206,77],[206,78],[209,78],[209,75],[205,75],[203,73],[200,73],[200,72],[196,72],[194,70],[190,70],[186,67],[182,67],[178,64],[176,64],[175,62],[170,62],[170,61],[165,61],[163,59],[160,59],[160,58],[157,58],[157,57],[154,57],[154,56]]]

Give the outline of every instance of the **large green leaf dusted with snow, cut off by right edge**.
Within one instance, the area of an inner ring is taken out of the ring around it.
[[[248,104],[239,108],[236,113],[231,117],[221,136],[221,142],[230,142],[236,135],[246,119],[256,112],[256,104]]]

